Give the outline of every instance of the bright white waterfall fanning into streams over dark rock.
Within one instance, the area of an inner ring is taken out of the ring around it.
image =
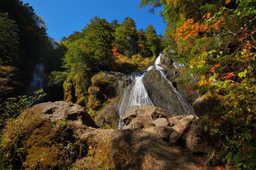
[[[187,114],[190,113],[191,105],[186,100],[183,99],[182,95],[172,85],[172,82],[168,80],[168,78],[166,77],[163,71],[164,68],[159,66],[161,62],[161,56],[162,56],[162,53],[160,53],[159,56],[156,58],[155,64],[148,67],[146,72],[138,72],[135,74],[125,76],[124,79],[126,79],[129,82],[129,85],[127,85],[124,88],[124,94],[122,95],[122,98],[118,104],[118,108],[119,108],[118,112],[120,117],[119,123],[118,123],[118,129],[125,128],[124,122],[122,121],[121,118],[129,107],[141,106],[141,105],[154,106],[143,83],[143,77],[147,76],[147,72],[150,70],[157,70],[160,72],[161,81],[167,82],[167,85],[171,87],[172,91],[176,94],[180,105],[182,106],[181,109],[183,108]],[[175,68],[182,67],[182,66],[184,65],[178,64],[178,63],[174,64]]]

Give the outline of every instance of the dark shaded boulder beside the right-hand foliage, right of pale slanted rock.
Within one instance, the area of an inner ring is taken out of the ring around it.
[[[207,121],[207,117],[203,116],[199,119],[193,120],[188,133],[186,135],[186,147],[190,152],[201,152],[207,154],[210,151],[208,142],[203,140],[203,135],[205,136],[204,131],[204,122]],[[208,138],[211,140],[211,137]]]

